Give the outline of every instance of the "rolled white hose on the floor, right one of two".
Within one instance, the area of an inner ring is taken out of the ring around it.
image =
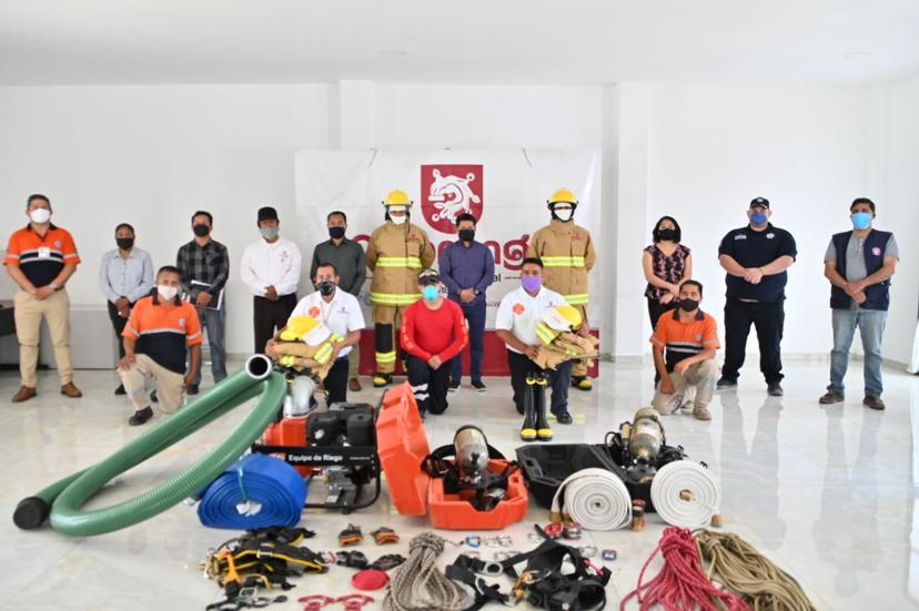
[[[675,460],[654,476],[652,502],[668,525],[700,528],[709,526],[718,513],[721,491],[708,469],[698,462]]]

